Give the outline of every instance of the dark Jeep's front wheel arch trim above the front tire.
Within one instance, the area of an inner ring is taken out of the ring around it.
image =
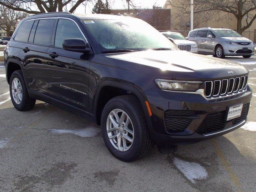
[[[126,93],[121,93],[121,94],[118,94],[118,95],[115,95],[115,96],[131,94],[131,95],[134,95],[138,98],[138,100],[139,100],[139,102],[142,106],[142,109],[143,109],[143,112],[144,112],[144,115],[145,115],[145,118],[146,118],[146,122],[147,122],[147,124],[148,124],[148,126],[151,130],[152,123],[151,123],[150,116],[149,116],[149,113],[148,113],[148,108],[147,108],[146,102],[145,102],[145,101],[147,101],[146,96],[143,94],[142,91],[138,90],[138,88],[135,88],[134,86],[131,86],[131,85],[128,85],[128,84],[125,84],[125,83],[121,83],[121,82],[113,82],[113,81],[105,80],[105,81],[100,83],[100,85],[97,88],[96,94],[95,94],[95,96],[92,100],[92,105],[91,105],[93,107],[91,112],[93,113],[94,120],[98,124],[100,124],[100,117],[101,117],[101,113],[99,112],[99,110],[100,110],[100,108],[99,108],[100,98],[101,98],[102,94],[104,94],[104,88],[109,88],[109,87],[116,88],[118,90],[126,91]],[[113,97],[111,97],[111,98],[113,98]],[[103,103],[102,107],[104,107],[105,104],[106,104],[106,102]]]

